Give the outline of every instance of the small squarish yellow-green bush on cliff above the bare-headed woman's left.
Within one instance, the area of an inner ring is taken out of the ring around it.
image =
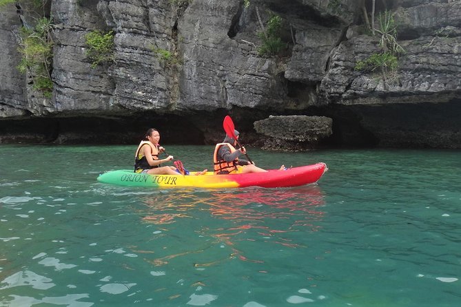
[[[114,63],[114,32],[103,33],[94,30],[85,34],[85,43],[88,45],[86,56],[92,61],[91,67]]]

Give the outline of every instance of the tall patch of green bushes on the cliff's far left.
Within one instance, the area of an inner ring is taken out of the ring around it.
[[[37,21],[33,29],[21,28],[19,52],[22,55],[17,66],[19,72],[30,72],[34,89],[50,97],[53,89],[51,69],[53,58],[52,21],[45,17]]]

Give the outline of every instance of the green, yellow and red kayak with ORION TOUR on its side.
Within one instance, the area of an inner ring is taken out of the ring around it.
[[[188,176],[178,175],[150,175],[134,173],[132,170],[121,169],[107,171],[97,180],[107,184],[117,184],[127,187],[201,187],[201,188],[243,188],[243,187],[298,187],[317,182],[327,165],[323,162],[303,167],[291,167],[285,170],[272,169],[264,173],[235,173],[214,175],[208,171],[203,175],[196,175],[191,171]]]

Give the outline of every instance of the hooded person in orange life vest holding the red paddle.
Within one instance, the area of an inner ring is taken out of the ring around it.
[[[238,140],[239,132],[234,130],[234,136]],[[267,170],[261,169],[247,160],[239,159],[240,154],[246,154],[245,147],[236,149],[237,140],[227,136],[223,142],[216,144],[213,154],[213,165],[215,175],[227,173],[263,173]],[[282,165],[280,169],[285,169]]]

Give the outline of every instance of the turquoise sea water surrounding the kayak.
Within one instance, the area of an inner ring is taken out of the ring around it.
[[[461,151],[269,153],[291,189],[96,182],[136,146],[0,146],[0,306],[458,306]],[[169,146],[189,169],[212,147]],[[191,157],[191,158],[189,158]]]

